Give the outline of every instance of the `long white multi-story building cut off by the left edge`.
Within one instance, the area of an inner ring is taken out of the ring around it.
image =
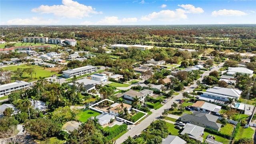
[[[31,83],[16,80],[10,84],[0,85],[0,97],[8,95],[16,90],[21,90],[24,88],[28,88]]]

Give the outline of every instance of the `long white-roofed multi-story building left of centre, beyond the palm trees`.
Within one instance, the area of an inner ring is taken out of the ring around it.
[[[62,76],[65,78],[71,78],[73,76],[82,76],[84,74],[89,74],[92,72],[96,72],[97,67],[96,66],[83,66],[80,68],[73,68],[62,71]]]

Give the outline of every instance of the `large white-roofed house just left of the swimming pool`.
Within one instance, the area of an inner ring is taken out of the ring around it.
[[[228,98],[238,100],[241,93],[242,91],[238,89],[214,86],[213,88],[208,88],[206,92],[203,92],[199,99],[224,104],[224,102],[228,101]]]

